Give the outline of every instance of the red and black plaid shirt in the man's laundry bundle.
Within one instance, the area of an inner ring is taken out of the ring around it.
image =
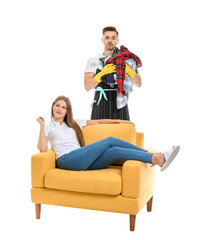
[[[142,66],[142,62],[138,56],[130,52],[128,48],[123,45],[120,47],[120,50],[115,53],[111,58],[109,58],[106,64],[113,63],[116,65],[116,80],[118,84],[117,92],[121,92],[123,96],[126,95],[126,92],[123,90],[124,80],[125,80],[125,69],[127,59],[133,59],[136,62],[137,68]]]

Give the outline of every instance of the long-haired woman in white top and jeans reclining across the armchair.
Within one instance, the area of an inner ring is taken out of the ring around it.
[[[40,135],[38,149],[45,152],[48,141],[56,154],[57,167],[67,170],[103,169],[115,160],[138,160],[144,163],[159,165],[165,170],[179,152],[176,146],[164,153],[149,153],[131,143],[114,137],[85,146],[82,127],[92,124],[129,123],[124,120],[74,120],[70,100],[65,96],[55,99],[51,108],[52,121],[45,125],[44,118],[38,117]]]

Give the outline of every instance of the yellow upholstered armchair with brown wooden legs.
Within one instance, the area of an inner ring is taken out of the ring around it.
[[[99,124],[83,128],[86,145],[112,136],[144,147],[143,133],[132,124]],[[119,160],[119,159],[118,159]],[[129,160],[116,161],[105,169],[69,171],[56,168],[52,149],[31,158],[31,199],[36,218],[41,204],[125,213],[130,230],[135,229],[137,213],[147,205],[152,209],[155,168]]]

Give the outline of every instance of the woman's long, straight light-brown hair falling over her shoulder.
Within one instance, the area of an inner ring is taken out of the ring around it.
[[[65,96],[59,96],[55,99],[55,101],[52,104],[52,108],[51,108],[51,119],[53,119],[54,115],[53,115],[53,106],[56,104],[57,101],[59,100],[63,100],[66,103],[67,106],[67,114],[64,118],[64,122],[71,128],[73,128],[75,130],[76,133],[76,137],[77,140],[80,144],[81,147],[85,146],[85,142],[84,142],[84,137],[82,134],[82,130],[79,127],[79,125],[76,123],[76,121],[73,119],[73,112],[72,112],[72,106],[71,106],[71,102],[69,100],[69,98],[65,97]]]

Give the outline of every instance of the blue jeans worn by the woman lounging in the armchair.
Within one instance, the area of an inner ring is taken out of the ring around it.
[[[152,156],[131,143],[108,137],[62,155],[57,159],[57,167],[75,171],[103,169],[116,160],[152,163]]]

